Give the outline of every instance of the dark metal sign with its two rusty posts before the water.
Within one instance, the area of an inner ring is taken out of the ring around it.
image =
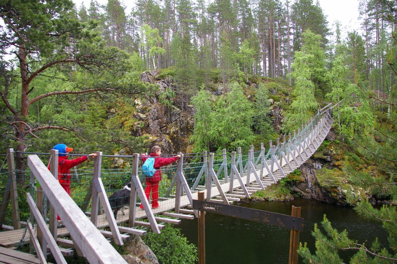
[[[298,263],[299,231],[303,231],[301,208],[292,206],[292,215],[278,214],[241,206],[204,201],[204,193],[198,193],[198,200],[193,200],[193,210],[198,210],[198,263],[205,264],[205,225],[204,212],[222,214],[263,224],[276,225],[291,229],[289,264]]]

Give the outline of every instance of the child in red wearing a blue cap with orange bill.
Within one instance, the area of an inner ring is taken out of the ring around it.
[[[69,153],[70,151],[73,151],[73,148],[68,148],[66,147],[65,144],[58,144],[54,146],[53,149],[58,150],[59,153]],[[91,153],[91,157],[94,158],[96,157],[96,153]],[[70,169],[73,168],[74,166],[77,166],[83,162],[85,162],[88,157],[87,156],[81,156],[79,158],[76,158],[74,160],[68,160],[68,156],[65,154],[59,154],[58,156],[58,181],[61,184],[61,186],[64,188],[66,193],[70,195]],[[48,170],[50,170],[50,166],[48,166]],[[60,172],[60,173],[59,173]],[[61,220],[58,216],[58,220]]]

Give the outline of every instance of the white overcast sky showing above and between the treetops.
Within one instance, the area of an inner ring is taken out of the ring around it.
[[[100,4],[106,4],[108,2],[107,0],[96,1]],[[88,8],[91,0],[73,0],[73,2],[78,8],[82,2]],[[133,0],[121,0],[121,2],[124,2],[124,5],[127,6],[125,13],[130,13],[134,6]],[[316,0],[313,0],[313,2],[315,4]],[[339,20],[342,23],[342,31],[347,32],[356,29],[361,32],[360,21],[358,20],[358,16],[360,15],[358,12],[358,0],[318,0],[318,2],[320,2],[324,14],[327,15],[328,26],[331,31],[333,31],[332,24],[334,21]]]

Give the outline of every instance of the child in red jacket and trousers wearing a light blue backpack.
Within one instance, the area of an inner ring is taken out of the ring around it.
[[[162,166],[167,166],[171,164],[172,162],[175,162],[178,160],[178,158],[181,157],[181,155],[177,155],[171,158],[160,158],[161,155],[161,148],[159,146],[153,146],[152,147],[152,153],[150,153],[150,157],[158,157],[154,158],[154,168],[156,169],[156,172],[153,174],[153,177],[146,177],[146,187],[145,187],[145,195],[146,198],[149,200],[150,197],[150,191],[152,191],[152,208],[158,208],[158,184],[161,181],[161,170],[160,167]],[[145,154],[142,154],[143,157],[145,157]],[[142,161],[145,162],[147,158],[142,158]],[[143,209],[143,205],[139,207]]]

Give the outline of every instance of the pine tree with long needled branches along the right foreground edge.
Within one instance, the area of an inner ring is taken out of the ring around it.
[[[390,3],[391,4],[391,3]],[[391,6],[391,15],[389,20],[395,24],[397,16],[394,5]],[[393,31],[393,42],[387,50],[387,64],[389,70],[393,72],[394,81],[397,79],[397,54],[395,48],[397,46],[396,33]],[[362,100],[368,104],[377,103],[387,107],[387,118],[385,121],[375,120],[372,126],[366,126],[364,129],[352,129],[352,142],[357,146],[367,160],[376,162],[379,168],[387,168],[384,177],[374,177],[371,173],[353,168],[346,163],[345,172],[349,175],[349,182],[361,187],[356,189],[355,193],[347,190],[348,202],[355,206],[355,211],[365,219],[382,223],[383,227],[388,231],[389,248],[380,245],[378,239],[372,242],[370,246],[365,243],[349,239],[347,231],[338,232],[331,226],[326,216],[322,222],[326,235],[320,231],[317,225],[314,227],[313,236],[316,238],[316,253],[311,254],[307,248],[300,244],[299,254],[304,258],[305,263],[343,263],[338,255],[339,251],[355,250],[355,255],[350,259],[350,263],[396,263],[397,262],[397,210],[395,206],[383,205],[377,209],[366,198],[366,192],[378,197],[388,197],[397,202],[397,182],[396,182],[396,165],[397,165],[397,133],[395,126],[397,125],[397,101],[396,92],[393,89],[389,98],[379,96],[370,86],[359,81],[356,77],[359,93]],[[375,104],[376,105],[376,104]],[[382,107],[384,108],[384,107]],[[381,109],[382,109],[381,108]]]

